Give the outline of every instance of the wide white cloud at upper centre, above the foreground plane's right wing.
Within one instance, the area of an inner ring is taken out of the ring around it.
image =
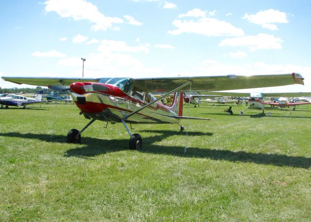
[[[173,25],[177,29],[168,31],[169,34],[194,33],[203,34],[206,36],[242,36],[244,32],[242,29],[236,28],[230,23],[219,21],[216,18],[202,17],[197,21],[194,20],[180,20],[175,19]]]

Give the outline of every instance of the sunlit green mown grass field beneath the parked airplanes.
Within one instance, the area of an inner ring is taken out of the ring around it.
[[[311,221],[311,106],[184,107],[177,124],[88,120],[75,105],[0,110],[0,221]],[[268,111],[266,111],[268,112]],[[187,153],[184,153],[187,145]]]

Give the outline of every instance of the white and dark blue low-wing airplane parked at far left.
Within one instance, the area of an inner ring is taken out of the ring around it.
[[[9,108],[9,106],[23,106],[24,109],[27,109],[27,105],[38,103],[38,102],[47,102],[41,101],[43,90],[39,91],[35,98],[29,98],[17,94],[8,94],[5,97],[0,98],[1,109]]]

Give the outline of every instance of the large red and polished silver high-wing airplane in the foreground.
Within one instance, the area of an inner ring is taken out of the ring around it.
[[[82,130],[71,129],[67,135],[70,143],[80,142],[81,133],[95,120],[121,122],[127,130],[130,149],[141,149],[142,138],[131,134],[126,123],[177,123],[183,119],[209,120],[206,118],[183,117],[183,92],[190,86],[193,91],[230,90],[303,84],[298,73],[255,76],[197,76],[169,78],[56,78],[56,77],[2,77],[17,84],[53,86],[70,89],[71,96],[79,107],[80,114],[90,121]],[[54,87],[55,88],[55,87]],[[153,91],[167,92],[155,99]],[[173,104],[164,105],[161,99],[174,94]],[[180,125],[180,124],[179,124]],[[180,125],[180,129],[184,127]]]

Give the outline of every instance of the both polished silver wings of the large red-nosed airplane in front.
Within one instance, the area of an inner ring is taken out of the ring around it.
[[[83,79],[60,77],[2,77],[3,80],[28,85],[70,85],[74,82],[109,82],[109,78]],[[227,75],[227,76],[195,76],[166,78],[131,78],[133,85],[149,92],[168,92],[187,82],[191,82],[191,91],[219,91],[245,89],[279,85],[304,84],[299,73],[280,75]],[[189,85],[188,85],[189,86]],[[189,86],[189,87],[190,87]]]

